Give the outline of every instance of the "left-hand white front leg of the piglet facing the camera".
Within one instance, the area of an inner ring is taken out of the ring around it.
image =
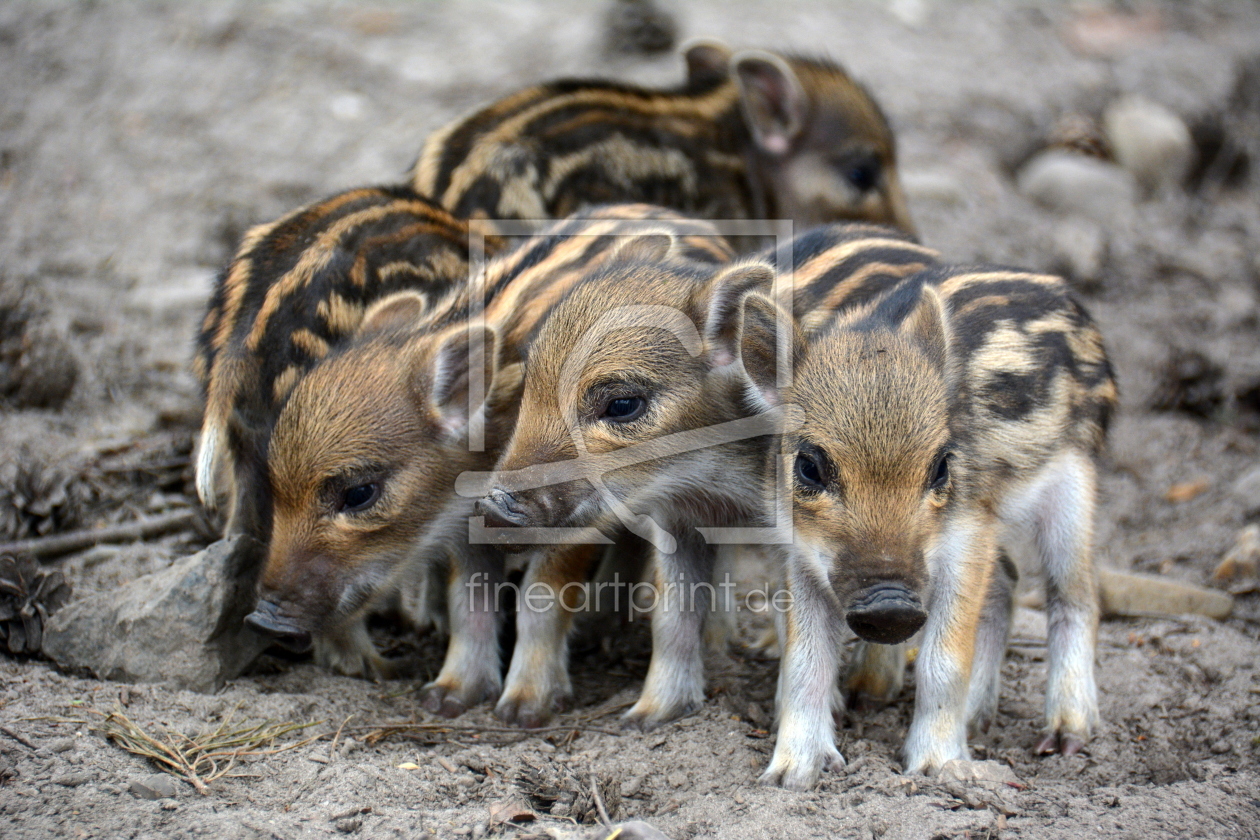
[[[779,741],[759,780],[809,790],[823,769],[844,767],[835,748],[834,694],[840,670],[838,604],[819,582],[789,562],[790,608],[777,622],[784,646],[779,667]]]

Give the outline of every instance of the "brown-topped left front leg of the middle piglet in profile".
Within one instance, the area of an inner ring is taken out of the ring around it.
[[[517,645],[494,713],[507,723],[541,727],[573,698],[568,679],[568,631],[573,613],[590,604],[587,572],[597,547],[559,545],[525,565],[517,606]]]

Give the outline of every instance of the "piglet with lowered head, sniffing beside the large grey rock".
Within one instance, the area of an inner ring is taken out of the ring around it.
[[[515,421],[519,361],[539,315],[534,304],[563,297],[591,266],[639,239],[617,237],[627,220],[677,232],[696,258],[731,257],[701,223],[659,208],[591,215],[525,241],[488,263],[484,278],[452,288],[415,319],[392,314],[410,292],[386,298],[292,389],[267,451],[273,516],[260,610],[290,635],[314,636],[321,662],[352,674],[382,673],[363,618],[436,562],[450,568],[451,644],[446,665],[425,690],[426,708],[457,714],[498,694],[494,611],[466,604],[479,586],[501,579],[501,557],[469,543],[472,501],[452,490],[461,472],[493,466]],[[471,336],[486,350],[485,402],[467,390]],[[474,428],[483,432],[484,450],[470,446]],[[370,504],[343,509],[348,492],[369,486]],[[479,573],[484,577],[472,577]]]

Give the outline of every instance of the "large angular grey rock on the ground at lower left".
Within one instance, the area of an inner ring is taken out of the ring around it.
[[[244,627],[252,574],[247,545],[219,540],[120,589],[72,602],[44,631],[43,652],[101,679],[213,691],[270,640]]]

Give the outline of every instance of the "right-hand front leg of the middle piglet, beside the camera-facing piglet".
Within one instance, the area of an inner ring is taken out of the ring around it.
[[[709,610],[714,549],[690,531],[673,554],[653,554],[655,604],[651,662],[639,701],[625,723],[644,732],[704,704],[704,613]]]

